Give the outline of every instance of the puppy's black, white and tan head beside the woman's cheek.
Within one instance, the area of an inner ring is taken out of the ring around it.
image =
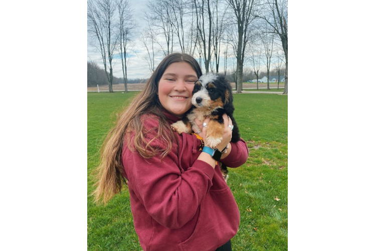
[[[206,73],[196,81],[193,89],[192,103],[197,108],[211,110],[223,108],[228,101],[229,91],[222,78],[213,73]]]

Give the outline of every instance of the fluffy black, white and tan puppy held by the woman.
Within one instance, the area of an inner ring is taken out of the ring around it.
[[[191,134],[193,131],[199,130],[195,118],[204,121],[206,117],[210,117],[210,122],[206,130],[206,145],[210,148],[217,148],[223,140],[224,119],[223,114],[232,119],[234,126],[231,142],[240,140],[240,133],[233,117],[233,95],[232,86],[228,80],[221,75],[206,73],[202,75],[194,85],[192,108],[186,112],[182,120],[171,124],[171,128],[178,134]],[[227,167],[221,163],[221,170],[225,181],[228,178]]]

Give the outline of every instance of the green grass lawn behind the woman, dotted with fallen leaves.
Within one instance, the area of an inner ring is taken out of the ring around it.
[[[87,93],[87,250],[142,250],[133,226],[126,188],[107,206],[89,195],[90,175],[116,113],[136,93]],[[127,101],[126,101],[127,100]],[[289,124],[286,95],[235,94],[234,116],[249,159],[229,170],[230,186],[241,214],[233,250],[288,250]],[[280,201],[276,201],[276,196]],[[250,211],[251,210],[251,211]],[[255,230],[256,228],[257,230]]]

